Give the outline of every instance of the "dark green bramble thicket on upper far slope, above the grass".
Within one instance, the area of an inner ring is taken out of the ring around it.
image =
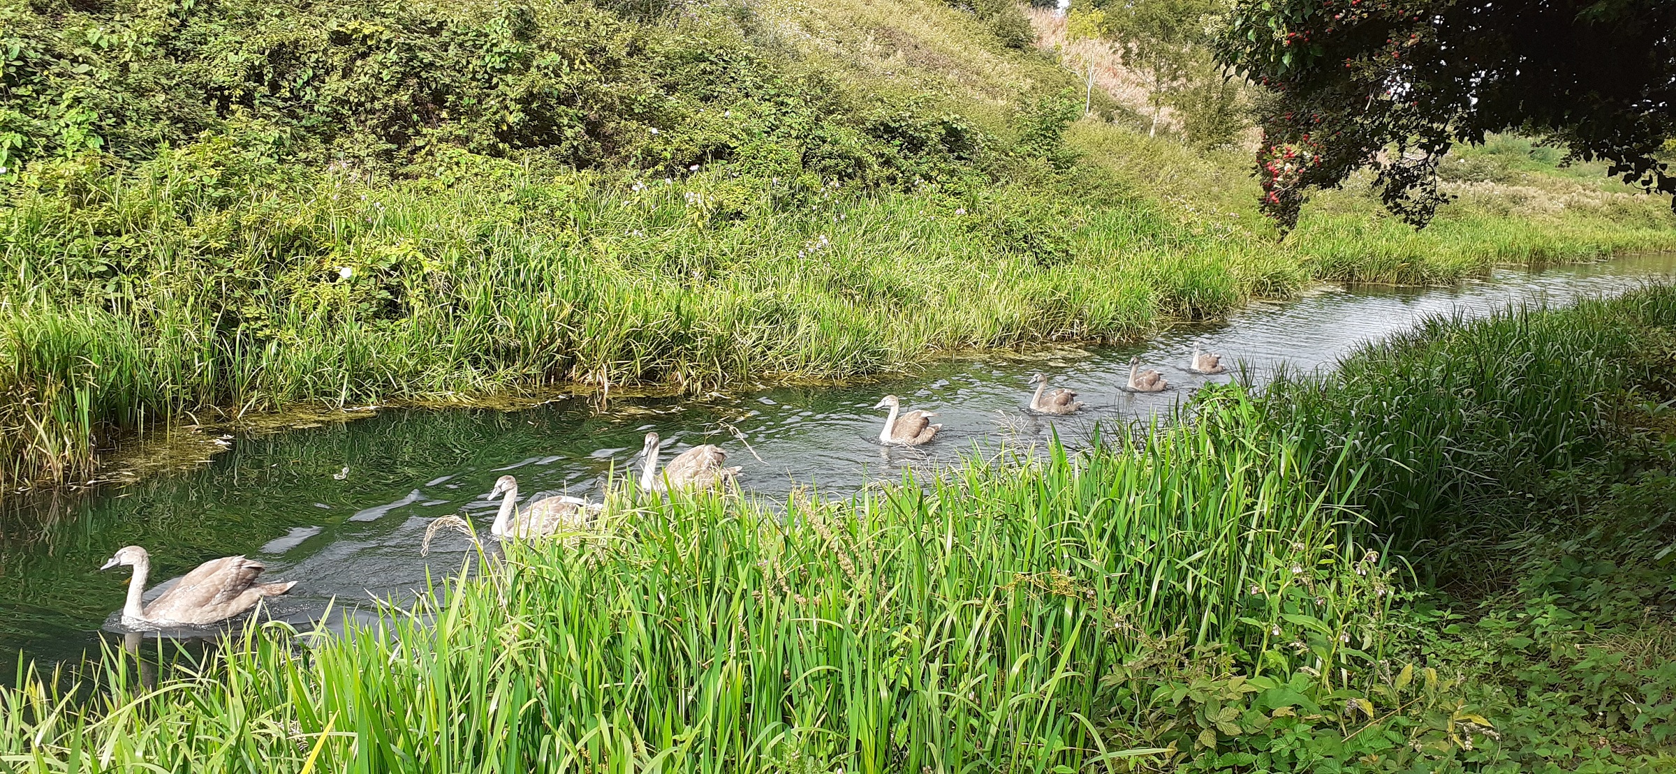
[[[726,161],[905,184],[970,174],[982,156],[960,119],[850,104],[751,45],[744,25],[665,10],[0,0],[0,168],[92,151],[139,161],[204,134],[385,173],[464,149],[578,169],[684,174]]]

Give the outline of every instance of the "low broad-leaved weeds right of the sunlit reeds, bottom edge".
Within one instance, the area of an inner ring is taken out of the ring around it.
[[[1386,771],[1495,747],[1463,679],[1411,660],[1426,622],[1378,551],[1294,543],[1274,560],[1244,590],[1235,645],[1140,638],[1101,679],[1115,737],[1183,771]]]

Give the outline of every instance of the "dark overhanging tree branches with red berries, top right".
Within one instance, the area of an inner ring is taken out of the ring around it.
[[[1275,92],[1257,166],[1284,228],[1364,166],[1423,226],[1450,146],[1508,129],[1676,193],[1656,157],[1676,136],[1669,0],[1237,0],[1218,54]]]

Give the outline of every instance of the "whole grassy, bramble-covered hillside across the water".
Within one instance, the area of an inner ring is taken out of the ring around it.
[[[1079,117],[1006,3],[0,0],[0,52],[8,488],[184,410],[845,377],[1676,245],[1507,149],[1425,233],[1341,191],[1277,241],[1240,151]]]

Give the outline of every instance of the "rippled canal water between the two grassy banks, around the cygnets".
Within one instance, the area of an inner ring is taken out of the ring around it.
[[[1497,270],[1456,288],[1326,286],[1282,303],[1255,303],[1227,322],[1173,328],[1133,347],[1049,348],[1024,355],[942,357],[903,377],[821,387],[776,387],[706,397],[566,399],[523,410],[397,409],[347,424],[233,439],[208,464],[136,484],[13,498],[0,513],[0,657],[80,658],[122,605],[126,571],[99,573],[117,550],[151,551],[153,583],[204,560],[243,553],[265,580],[295,580],[277,617],[307,622],[379,600],[411,600],[427,573],[461,566],[466,541],[449,533],[419,546],[431,519],[461,514],[488,531],[483,499],[504,474],[525,498],[598,498],[615,471],[639,472],[642,437],[657,431],[664,459],[714,442],[744,467],[749,496],[783,499],[794,486],[843,494],[900,467],[937,467],[962,454],[1041,442],[1056,431],[1086,439],[1094,422],[1165,414],[1207,380],[1187,372],[1193,345],[1262,377],[1277,367],[1331,367],[1361,342],[1428,315],[1482,315],[1523,302],[1562,303],[1676,273],[1676,255],[1582,266]],[[1128,360],[1163,372],[1172,389],[1130,394]],[[1088,404],[1073,417],[1024,412],[1029,379],[1048,374]],[[885,394],[944,424],[918,449],[882,449]]]

